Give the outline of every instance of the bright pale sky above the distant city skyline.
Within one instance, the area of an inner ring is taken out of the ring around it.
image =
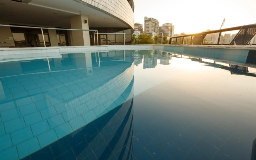
[[[193,34],[256,23],[256,0],[134,0],[134,23],[144,16],[155,18],[159,26],[174,25],[174,34]]]

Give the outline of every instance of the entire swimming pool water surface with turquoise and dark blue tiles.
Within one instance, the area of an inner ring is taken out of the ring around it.
[[[0,63],[1,159],[250,159],[256,69],[116,50]]]

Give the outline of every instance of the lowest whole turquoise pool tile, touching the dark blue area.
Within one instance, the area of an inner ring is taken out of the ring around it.
[[[40,145],[36,137],[17,145],[19,158],[24,158],[25,156],[28,156],[29,154],[36,152],[39,149]]]

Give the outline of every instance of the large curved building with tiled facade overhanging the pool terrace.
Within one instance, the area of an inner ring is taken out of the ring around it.
[[[133,0],[2,0],[0,24],[56,28],[43,30],[46,46],[94,45],[93,31],[58,28],[126,33],[125,44],[131,44],[134,32],[133,11]],[[99,45],[123,43],[122,37],[99,34]],[[44,46],[40,29],[10,26],[0,26],[0,44],[4,44],[2,47]]]

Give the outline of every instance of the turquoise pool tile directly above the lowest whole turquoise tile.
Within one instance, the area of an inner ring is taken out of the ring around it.
[[[16,145],[30,138],[33,138],[33,134],[30,127],[28,126],[26,128],[22,128],[20,130],[12,132],[11,137],[12,137],[12,144]]]

